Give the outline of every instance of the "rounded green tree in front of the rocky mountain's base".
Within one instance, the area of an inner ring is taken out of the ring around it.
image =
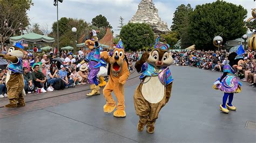
[[[120,38],[124,42],[127,51],[138,51],[138,49],[153,44],[154,33],[149,24],[128,23],[122,27]]]

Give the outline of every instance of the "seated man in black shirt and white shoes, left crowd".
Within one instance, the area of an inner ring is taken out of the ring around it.
[[[32,77],[33,77],[33,83],[35,85],[35,88],[41,88],[41,92],[46,92],[46,90],[44,89],[44,84],[46,83],[46,77],[41,71],[39,71],[40,70],[39,65],[35,65],[34,68],[35,69],[32,72]]]

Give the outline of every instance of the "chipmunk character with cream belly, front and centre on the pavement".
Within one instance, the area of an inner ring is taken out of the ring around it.
[[[168,68],[172,65],[172,56],[168,52],[169,45],[156,40],[156,45],[150,53],[144,52],[142,58],[136,62],[135,68],[142,75],[141,83],[135,90],[134,108],[139,116],[137,129],[147,133],[154,132],[154,123],[161,108],[169,101],[172,90],[172,75]]]

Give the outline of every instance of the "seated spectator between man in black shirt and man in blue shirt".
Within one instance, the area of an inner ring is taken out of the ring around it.
[[[52,87],[56,83],[56,78],[58,76],[58,69],[56,67],[49,67],[47,69],[46,78],[49,84],[47,91],[53,91],[54,88]]]

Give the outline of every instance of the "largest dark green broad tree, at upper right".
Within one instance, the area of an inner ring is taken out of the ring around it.
[[[223,1],[197,5],[188,26],[190,40],[200,49],[212,49],[212,39],[221,34],[224,42],[246,33],[247,10],[241,5]]]

